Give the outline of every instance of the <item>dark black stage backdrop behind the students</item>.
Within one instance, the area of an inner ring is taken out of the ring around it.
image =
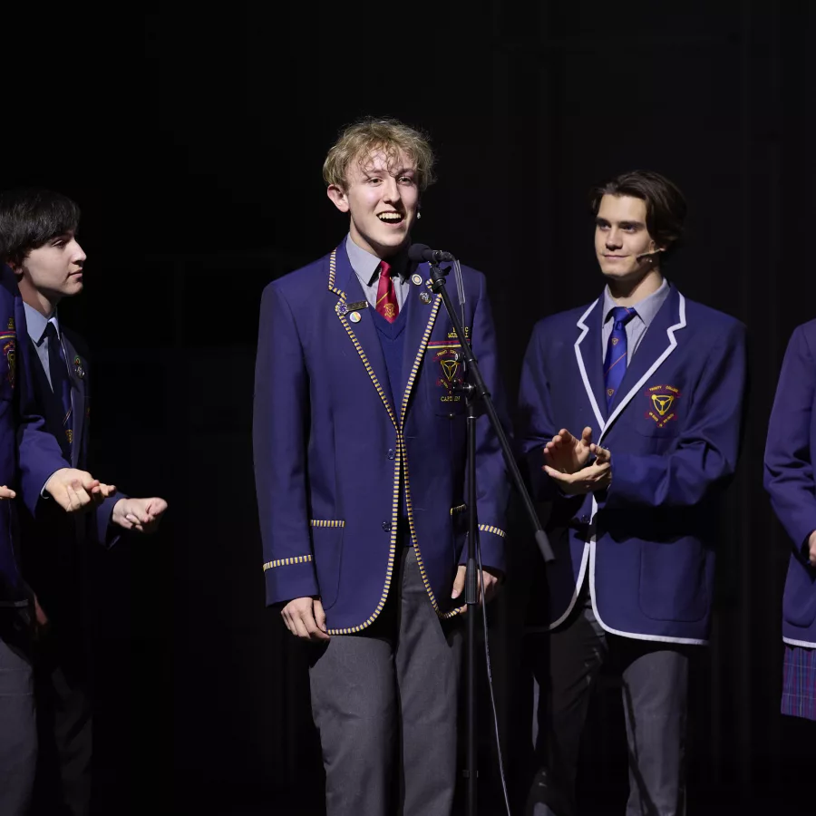
[[[785,344],[814,316],[813,4],[237,0],[43,12],[7,34],[0,180],[83,207],[86,292],[61,314],[93,350],[94,471],[170,501],[157,537],[96,559],[100,812],[319,801],[302,656],[263,607],[254,345],[261,289],[345,234],[320,170],[368,113],[431,133],[439,182],[414,237],[488,276],[511,393],[535,320],[602,286],[589,185],[646,167],[685,191],[670,277],[749,326],[752,377],[695,675],[693,801],[803,795],[812,730],[777,714],[789,550],[762,455]],[[514,609],[505,599],[494,629],[520,775]],[[619,803],[623,725],[605,688],[587,772]]]

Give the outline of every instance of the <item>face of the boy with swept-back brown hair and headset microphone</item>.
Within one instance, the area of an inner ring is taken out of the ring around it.
[[[655,266],[659,256],[638,256],[656,250],[646,228],[646,201],[632,196],[601,199],[595,219],[595,251],[601,272],[614,280],[636,280]]]

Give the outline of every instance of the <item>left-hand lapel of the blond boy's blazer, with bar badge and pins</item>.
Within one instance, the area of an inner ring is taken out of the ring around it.
[[[340,322],[345,328],[346,334],[355,346],[355,351],[360,356],[360,360],[365,366],[365,370],[371,377],[371,381],[380,395],[384,406],[391,415],[394,426],[399,427],[397,412],[393,405],[393,395],[391,384],[388,381],[388,371],[385,368],[383,356],[383,346],[380,345],[380,338],[377,336],[377,329],[374,320],[369,314],[371,306],[365,298],[363,287],[357,279],[355,270],[352,268],[348,253],[345,251],[345,241],[329,258],[329,291],[338,296],[335,299],[335,315],[332,319]],[[345,311],[348,306],[354,303],[365,303],[365,308],[355,310],[355,314],[360,316],[358,323],[349,320],[352,312]],[[345,305],[345,306],[344,306]]]

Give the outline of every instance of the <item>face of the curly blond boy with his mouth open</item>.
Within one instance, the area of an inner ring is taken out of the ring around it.
[[[380,258],[393,256],[407,244],[419,205],[416,168],[400,152],[389,161],[383,151],[352,161],[345,189],[327,192],[335,207],[351,217],[351,237],[358,247]]]

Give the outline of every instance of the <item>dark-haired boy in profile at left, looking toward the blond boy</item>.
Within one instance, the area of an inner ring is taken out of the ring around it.
[[[0,261],[24,300],[34,402],[63,456],[88,460],[90,365],[83,339],[61,325],[57,306],[83,290],[85,253],[76,239],[80,209],[47,189],[0,193]],[[121,529],[151,532],[163,499],[106,498],[89,517],[66,519],[21,509],[23,573],[34,590],[40,759],[35,812],[86,814],[91,792],[92,704],[84,620],[89,541],[107,546]]]

